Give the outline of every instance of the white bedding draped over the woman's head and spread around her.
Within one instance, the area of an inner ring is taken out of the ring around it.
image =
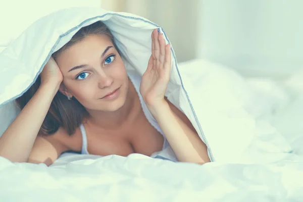
[[[52,14],[0,54],[0,72],[6,75],[0,80],[1,134],[18,114],[13,99],[29,87],[51,52],[85,23],[107,20],[126,62],[143,73],[157,25],[113,14],[87,9]],[[38,28],[40,35],[32,38]],[[1,201],[303,200],[300,79],[248,79],[207,61],[178,65],[172,60],[167,96],[191,120],[215,162],[199,166],[139,154],[64,154],[46,167],[0,158]]]

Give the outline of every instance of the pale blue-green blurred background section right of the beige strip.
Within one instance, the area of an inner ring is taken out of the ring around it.
[[[303,1],[205,0],[197,56],[283,77],[303,67]]]

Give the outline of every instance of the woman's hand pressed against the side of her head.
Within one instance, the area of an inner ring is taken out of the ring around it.
[[[48,82],[61,84],[63,80],[63,75],[53,57],[49,58],[48,62],[44,66],[42,72],[40,73],[40,78],[41,84],[45,84]]]

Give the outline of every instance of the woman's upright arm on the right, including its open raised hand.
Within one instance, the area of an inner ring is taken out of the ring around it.
[[[142,76],[140,93],[179,161],[210,162],[207,147],[189,120],[165,98],[171,72],[171,47],[159,31],[155,29],[151,33],[151,56]]]

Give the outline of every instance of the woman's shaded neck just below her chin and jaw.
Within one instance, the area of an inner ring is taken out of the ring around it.
[[[120,128],[128,122],[132,115],[136,112],[136,97],[137,92],[131,81],[129,81],[128,92],[124,105],[115,112],[105,111],[89,111],[88,123],[103,129]]]

